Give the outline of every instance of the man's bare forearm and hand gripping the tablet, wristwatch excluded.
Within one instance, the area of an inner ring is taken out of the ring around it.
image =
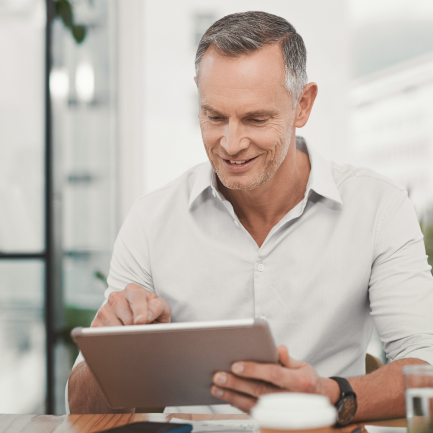
[[[285,346],[280,346],[278,352],[282,365],[237,362],[231,373],[216,373],[212,394],[248,413],[261,395],[272,392],[321,394],[332,404],[337,402],[340,397],[337,382],[319,377],[311,365],[290,358]],[[414,364],[426,363],[414,358],[401,359],[371,374],[349,379],[358,401],[355,421],[404,417],[402,368]]]

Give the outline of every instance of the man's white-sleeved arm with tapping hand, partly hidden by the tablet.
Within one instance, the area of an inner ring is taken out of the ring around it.
[[[92,327],[166,323],[171,320],[170,306],[154,293],[142,213],[143,209],[137,202],[122,225],[114,245],[105,302]],[[108,406],[85,362],[77,364],[69,376],[68,399],[70,413],[120,412]],[[132,408],[125,409],[125,412],[133,411]]]

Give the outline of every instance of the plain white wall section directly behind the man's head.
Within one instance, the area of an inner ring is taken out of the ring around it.
[[[319,96],[303,135],[326,156],[347,151],[348,27],[344,0],[146,0],[142,189],[150,191],[206,160],[193,82],[194,15],[264,10],[283,16],[304,38],[310,81]]]

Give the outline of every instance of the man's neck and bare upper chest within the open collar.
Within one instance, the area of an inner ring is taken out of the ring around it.
[[[269,231],[304,198],[310,160],[292,145],[274,176],[251,191],[232,190],[218,181],[224,197],[230,201],[242,225],[261,246]],[[293,146],[293,148],[292,148]]]

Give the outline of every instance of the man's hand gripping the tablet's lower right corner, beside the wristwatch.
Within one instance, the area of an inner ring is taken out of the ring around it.
[[[236,362],[232,373],[215,373],[211,393],[247,413],[261,395],[274,392],[322,394],[331,403],[338,398],[335,381],[319,377],[311,365],[290,358],[285,346],[278,347],[278,355],[282,365]]]

